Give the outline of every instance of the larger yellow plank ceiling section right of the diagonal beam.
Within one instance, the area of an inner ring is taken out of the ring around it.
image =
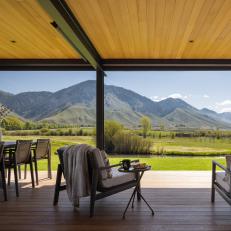
[[[104,58],[231,58],[231,0],[66,0]]]

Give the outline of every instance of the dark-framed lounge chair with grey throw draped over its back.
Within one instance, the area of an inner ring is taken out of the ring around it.
[[[66,189],[66,185],[61,185],[61,179],[64,172],[63,151],[64,150],[58,150],[60,164],[58,164],[58,169],[57,169],[55,195],[54,195],[54,202],[53,202],[54,205],[57,205],[58,203],[59,192]],[[133,162],[138,162],[138,160],[135,160]],[[89,164],[90,182],[91,182],[90,217],[92,217],[94,216],[94,206],[96,200],[135,187],[137,184],[138,176],[136,176],[134,173],[119,172],[118,167],[121,166],[121,164],[115,164],[108,167],[99,167],[98,158],[95,157],[91,152],[88,153],[88,164]],[[106,170],[108,168],[112,169],[112,178],[101,180],[100,171]],[[140,200],[140,196],[138,193],[137,193],[137,200]]]

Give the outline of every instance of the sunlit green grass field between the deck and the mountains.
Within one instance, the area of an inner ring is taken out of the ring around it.
[[[16,139],[32,139],[42,138],[42,136],[4,136],[5,141]],[[58,158],[54,154],[59,147],[68,144],[87,143],[95,145],[95,139],[90,136],[51,136],[52,141],[52,169],[56,170]],[[179,153],[199,153],[201,155],[230,153],[231,141],[229,139],[210,139],[210,138],[161,138],[153,139],[153,150],[163,149],[164,153],[160,156],[112,156],[111,163],[118,163],[124,158],[140,159],[152,166],[153,170],[211,170],[211,161],[217,160],[224,164],[224,157],[172,157],[165,154]],[[166,152],[166,153],[165,153]],[[39,169],[46,170],[46,162],[39,162]]]

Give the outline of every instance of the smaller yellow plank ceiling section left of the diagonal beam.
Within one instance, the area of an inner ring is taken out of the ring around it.
[[[36,0],[0,0],[0,58],[79,58]]]

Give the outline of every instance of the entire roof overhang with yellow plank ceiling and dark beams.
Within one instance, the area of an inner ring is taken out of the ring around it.
[[[0,70],[231,70],[230,11],[225,0],[1,1]]]

